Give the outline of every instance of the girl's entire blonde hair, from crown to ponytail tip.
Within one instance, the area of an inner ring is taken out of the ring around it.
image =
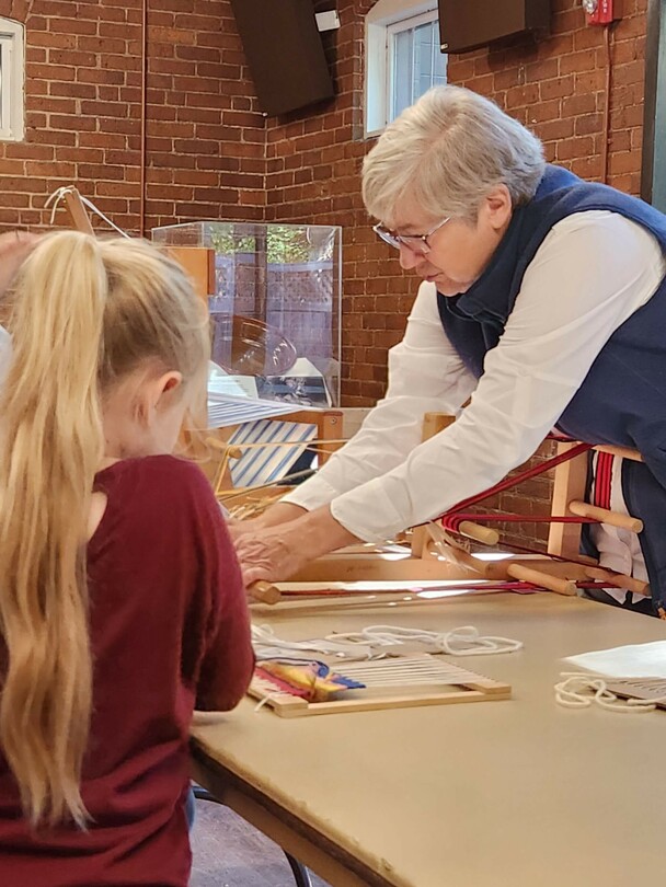
[[[85,569],[101,400],[146,366],[205,372],[203,304],[175,262],[138,240],[46,237],[14,288],[0,395],[0,748],[34,826],[84,827],[92,705]]]

